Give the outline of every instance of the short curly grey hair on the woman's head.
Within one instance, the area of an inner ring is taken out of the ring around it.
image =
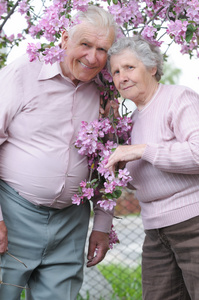
[[[110,71],[110,58],[112,55],[120,54],[122,51],[129,49],[139,59],[147,69],[157,67],[155,78],[157,81],[163,75],[163,56],[160,48],[141,35],[133,37],[124,37],[115,42],[108,51],[108,69]]]

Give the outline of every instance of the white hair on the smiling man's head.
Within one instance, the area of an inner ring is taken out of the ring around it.
[[[114,17],[106,10],[95,5],[89,5],[86,11],[78,11],[71,20],[71,26],[68,30],[71,37],[81,22],[89,24],[92,27],[104,28],[107,30],[107,35],[112,28],[115,33],[115,39],[117,37],[119,27],[114,20]]]

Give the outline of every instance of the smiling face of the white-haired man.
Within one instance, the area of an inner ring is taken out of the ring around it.
[[[113,29],[107,34],[105,28],[92,27],[84,22],[77,27],[71,37],[66,31],[62,34],[62,48],[66,49],[66,56],[60,63],[63,75],[75,84],[91,80],[104,68],[107,51],[115,37]]]

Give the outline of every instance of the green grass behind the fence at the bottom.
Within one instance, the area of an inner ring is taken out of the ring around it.
[[[113,295],[108,300],[141,300],[141,266],[137,268],[128,268],[121,265],[109,264],[98,265],[98,269],[113,288]],[[106,287],[104,287],[106,288]],[[25,291],[22,292],[21,300],[25,299]],[[89,292],[86,298],[80,295],[77,300],[92,300],[89,297]],[[101,300],[107,300],[101,298]]]

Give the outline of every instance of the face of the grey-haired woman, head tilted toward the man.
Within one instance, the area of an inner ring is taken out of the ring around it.
[[[111,56],[111,73],[115,87],[125,99],[139,107],[150,101],[157,87],[157,68],[147,69],[130,49]]]

